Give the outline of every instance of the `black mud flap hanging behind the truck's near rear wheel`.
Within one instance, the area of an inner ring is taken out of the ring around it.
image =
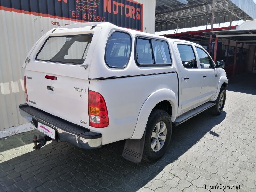
[[[145,144],[146,130],[141,139],[127,139],[125,141],[123,157],[133,163],[140,163]]]

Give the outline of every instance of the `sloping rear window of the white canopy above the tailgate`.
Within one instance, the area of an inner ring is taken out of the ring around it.
[[[92,35],[49,37],[36,56],[36,60],[82,64],[86,58]]]

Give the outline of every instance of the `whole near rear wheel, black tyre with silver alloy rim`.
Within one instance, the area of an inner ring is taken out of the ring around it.
[[[154,109],[146,127],[143,159],[149,162],[160,159],[166,152],[172,135],[172,122],[169,114]]]

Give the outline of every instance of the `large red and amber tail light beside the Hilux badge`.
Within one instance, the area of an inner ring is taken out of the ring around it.
[[[89,90],[88,111],[90,126],[103,128],[109,125],[106,102],[100,93]]]

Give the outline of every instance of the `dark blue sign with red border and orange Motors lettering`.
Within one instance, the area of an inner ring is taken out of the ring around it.
[[[143,30],[143,4],[133,0],[0,0],[0,10]]]

